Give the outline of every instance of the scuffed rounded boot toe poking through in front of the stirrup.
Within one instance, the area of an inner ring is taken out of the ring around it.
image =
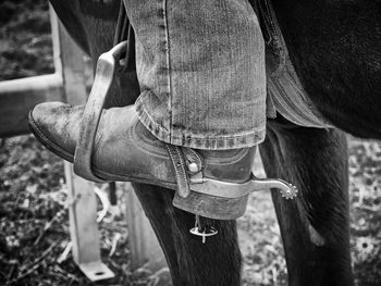
[[[29,112],[29,128],[50,151],[73,162],[83,110],[62,102],[40,103]]]

